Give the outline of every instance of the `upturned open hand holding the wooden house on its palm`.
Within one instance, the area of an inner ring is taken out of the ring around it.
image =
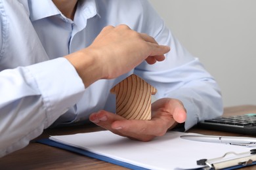
[[[186,109],[177,99],[163,98],[152,103],[151,120],[127,120],[112,112],[100,110],[91,114],[91,122],[105,129],[139,141],[151,141],[186,120]]]

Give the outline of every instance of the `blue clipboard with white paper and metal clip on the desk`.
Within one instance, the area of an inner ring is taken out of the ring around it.
[[[121,137],[110,131],[96,131],[73,135],[54,135],[50,136],[49,139],[41,139],[37,142],[108,161],[129,169],[219,169],[217,163],[220,163],[224,169],[228,169],[230,168],[229,165],[223,165],[222,161],[230,163],[231,160],[234,161],[232,169],[256,164],[255,157],[251,158],[253,163],[249,161],[250,159],[234,160],[235,158],[252,156],[249,150],[254,148],[218,143],[199,143],[198,141],[181,139],[181,135],[184,133],[168,131],[163,137],[156,137],[150,143],[142,143]],[[223,156],[224,158],[217,160],[208,159],[217,158],[228,152],[241,152],[242,154],[240,156],[228,154],[228,156]],[[207,160],[200,160],[201,158],[207,158]],[[204,164],[198,165],[198,160]]]

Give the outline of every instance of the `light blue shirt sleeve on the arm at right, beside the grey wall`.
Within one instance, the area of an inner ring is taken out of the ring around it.
[[[221,90],[213,76],[175,39],[148,1],[140,2],[143,11],[140,31],[154,37],[159,44],[170,46],[171,51],[165,61],[154,65],[144,62],[135,73],[158,90],[156,99],[171,97],[182,101],[187,110],[185,130],[201,120],[221,116]]]

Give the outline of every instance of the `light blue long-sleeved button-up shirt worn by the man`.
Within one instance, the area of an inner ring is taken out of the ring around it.
[[[84,122],[100,109],[115,112],[110,89],[131,73],[158,90],[156,99],[184,103],[185,129],[223,112],[213,77],[173,37],[148,1],[81,0],[74,21],[51,0],[0,0],[0,12],[0,156],[26,146],[51,125]],[[119,24],[151,35],[171,46],[171,52],[165,61],[143,62],[119,78],[84,88],[62,57],[89,46],[104,26]]]

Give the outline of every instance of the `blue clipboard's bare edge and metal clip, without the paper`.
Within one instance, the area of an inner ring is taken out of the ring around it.
[[[57,143],[55,141],[52,141],[51,139],[40,139],[40,140],[37,140],[37,143],[47,144],[49,146],[62,148],[64,150],[69,150],[70,152],[81,154],[83,156],[89,156],[91,158],[95,158],[102,161],[107,161],[109,163],[114,163],[116,165],[127,167],[129,169],[147,170],[146,168],[143,168],[143,167],[132,165],[130,163],[125,163],[123,161],[117,161],[112,158],[108,158],[106,156],[101,156],[93,152],[76,148],[74,146],[68,146],[66,144]],[[229,157],[226,158],[227,156]],[[198,160],[197,164],[204,165],[202,168],[198,168],[197,170],[201,170],[201,169],[202,170],[217,170],[217,169],[232,170],[232,169],[238,169],[246,166],[256,165],[256,149],[252,149],[249,152],[242,152],[238,154],[236,152],[227,152],[226,154],[224,154],[219,158],[212,158],[209,160],[207,159]]]

